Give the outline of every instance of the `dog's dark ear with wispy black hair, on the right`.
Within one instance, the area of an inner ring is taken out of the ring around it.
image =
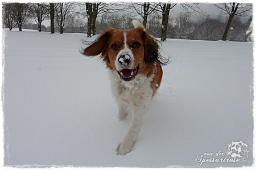
[[[143,30],[142,34],[144,42],[144,61],[146,64],[152,64],[158,62],[161,65],[167,65],[169,58],[164,58],[159,53],[158,40],[151,37],[146,31]]]

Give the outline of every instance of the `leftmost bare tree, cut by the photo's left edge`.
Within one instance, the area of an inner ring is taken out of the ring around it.
[[[14,22],[13,18],[11,18],[11,5],[10,3],[3,3],[3,22],[11,31],[15,26],[16,23]]]

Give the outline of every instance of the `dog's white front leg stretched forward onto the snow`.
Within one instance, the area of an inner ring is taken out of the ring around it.
[[[118,155],[126,155],[127,153],[131,152],[135,142],[137,141],[139,131],[141,131],[143,116],[147,111],[149,102],[150,98],[148,97],[146,102],[139,104],[133,103],[133,105],[131,105],[131,124],[121,145],[119,145],[117,148]]]

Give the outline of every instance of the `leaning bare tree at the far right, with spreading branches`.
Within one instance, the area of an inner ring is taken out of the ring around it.
[[[226,14],[229,15],[228,23],[226,24],[226,28],[222,36],[223,41],[226,41],[228,37],[228,32],[234,16],[235,15],[247,16],[250,14],[251,10],[253,9],[253,6],[251,3],[242,4],[242,3],[233,2],[233,3],[214,4],[214,6],[216,6],[217,8],[220,8]]]

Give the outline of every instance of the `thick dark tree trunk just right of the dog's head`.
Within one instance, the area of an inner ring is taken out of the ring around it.
[[[162,19],[162,35],[161,35],[161,41],[166,41],[166,34],[167,34],[167,27],[168,27],[168,21],[169,21],[169,14],[171,10],[171,3],[167,3],[164,5],[163,8],[163,19]]]

